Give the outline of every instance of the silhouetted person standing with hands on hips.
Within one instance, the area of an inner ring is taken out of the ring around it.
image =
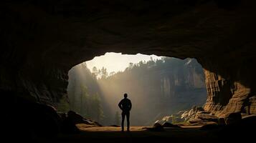
[[[128,99],[128,95],[124,94],[123,99],[119,102],[118,107],[122,110],[122,132],[124,131],[125,115],[127,120],[127,131],[130,131],[130,111],[131,111],[131,100]]]

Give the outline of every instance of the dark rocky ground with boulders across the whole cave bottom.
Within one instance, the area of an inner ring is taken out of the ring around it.
[[[32,107],[32,104],[28,107]],[[195,109],[193,110],[199,110]],[[47,114],[36,114],[38,111]],[[206,122],[200,121],[196,124],[156,122],[152,127],[131,127],[131,132],[120,132],[118,126],[103,127],[98,122],[85,119],[72,111],[57,114],[52,108],[41,104],[34,104],[32,111],[28,112],[30,114],[16,113],[20,115],[16,116],[20,119],[9,124],[11,132],[4,132],[9,135],[6,136],[9,142],[222,142],[238,139],[249,141],[255,139],[256,129],[256,116],[242,117],[240,113],[229,114],[222,122],[218,119],[218,123],[209,122],[208,118]],[[198,112],[196,114],[198,115]]]

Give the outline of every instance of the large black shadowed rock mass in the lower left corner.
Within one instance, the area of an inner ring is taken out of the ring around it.
[[[11,93],[8,95],[11,97]],[[61,118],[53,107],[24,99],[14,99],[14,104],[6,106],[2,116],[3,127],[10,129],[4,128],[11,141],[24,139],[39,142],[37,139],[52,139],[62,129]]]

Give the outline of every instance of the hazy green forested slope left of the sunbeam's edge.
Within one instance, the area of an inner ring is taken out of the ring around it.
[[[74,66],[69,72],[69,85],[67,87],[68,99],[60,100],[59,109],[75,111],[83,117],[101,122],[104,118],[103,107],[95,75],[87,69],[85,63]],[[68,104],[68,105],[67,105]]]

